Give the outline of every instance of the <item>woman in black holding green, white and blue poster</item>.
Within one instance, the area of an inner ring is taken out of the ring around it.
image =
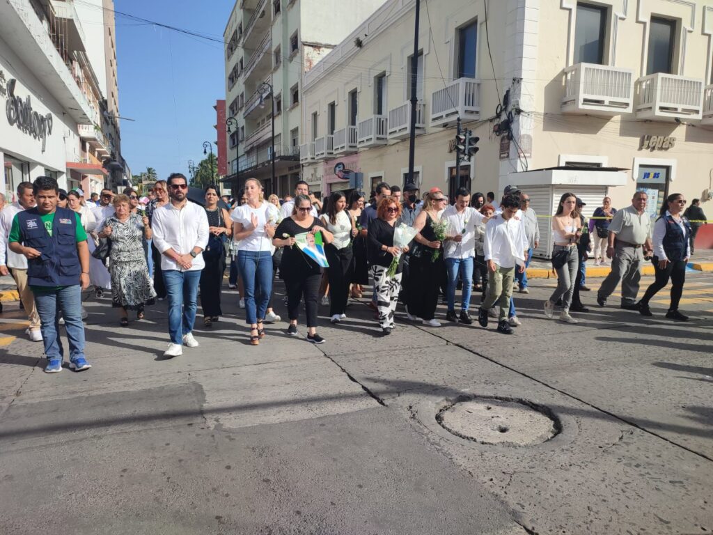
[[[319,264],[295,245],[294,237],[307,233],[307,243],[314,243],[314,235],[322,233],[324,243],[332,243],[334,236],[324,227],[319,218],[312,215],[312,201],[307,195],[294,198],[294,209],[289,218],[284,218],[277,226],[275,247],[282,247],[282,262],[279,265],[279,277],[287,287],[287,314],[289,316],[288,335],[297,335],[299,302],[304,299],[307,312],[307,342],[321,344],[324,338],[317,334],[317,303],[319,300],[319,282],[322,272]],[[311,235],[311,238],[310,238]]]

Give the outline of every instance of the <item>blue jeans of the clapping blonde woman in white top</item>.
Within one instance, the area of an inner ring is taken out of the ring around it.
[[[272,255],[270,251],[238,251],[237,267],[245,287],[245,320],[253,325],[265,319],[272,293]],[[255,293],[257,291],[257,294]]]

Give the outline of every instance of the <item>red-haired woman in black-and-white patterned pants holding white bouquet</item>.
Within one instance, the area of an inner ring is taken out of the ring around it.
[[[401,215],[401,205],[391,197],[381,199],[376,207],[376,218],[369,223],[366,234],[367,252],[371,275],[374,277],[376,310],[379,326],[384,335],[394,328],[394,311],[401,290],[402,253],[408,253],[409,246],[398,248],[394,245],[396,220]],[[408,243],[408,242],[406,242]],[[396,259],[396,267],[392,265]]]

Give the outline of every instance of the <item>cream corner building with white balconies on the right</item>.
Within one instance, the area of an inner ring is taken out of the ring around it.
[[[404,185],[414,21],[414,0],[389,0],[304,74],[313,190],[348,188],[338,162],[367,193]],[[545,215],[568,190],[589,212],[605,194],[622,207],[645,189],[653,211],[667,193],[713,191],[712,0],[422,0],[420,23],[421,190],[515,183]],[[461,178],[458,117],[480,138]]]

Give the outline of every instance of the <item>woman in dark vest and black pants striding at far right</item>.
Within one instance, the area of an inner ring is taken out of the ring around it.
[[[654,225],[652,242],[656,280],[650,285],[642,300],[637,303],[642,316],[652,316],[649,301],[671,280],[671,302],[666,317],[670,320],[688,321],[688,316],[678,310],[686,282],[686,266],[691,256],[691,224],[682,215],[686,199],[681,193],[672,193],[661,206],[659,218]]]

